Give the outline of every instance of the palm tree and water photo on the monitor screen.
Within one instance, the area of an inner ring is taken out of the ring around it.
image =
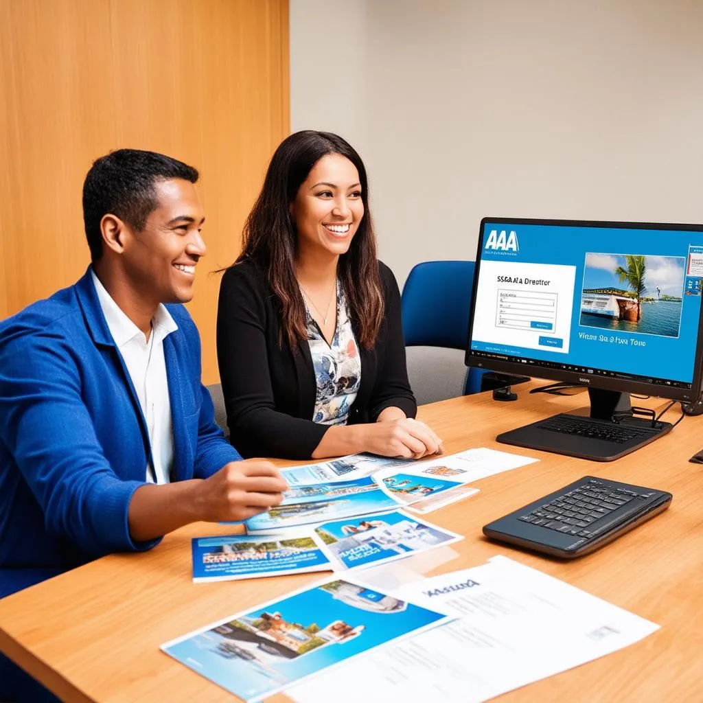
[[[684,257],[588,252],[581,326],[678,337],[685,261]]]

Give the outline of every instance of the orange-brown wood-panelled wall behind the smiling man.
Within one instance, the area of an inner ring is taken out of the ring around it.
[[[217,380],[219,276],[288,134],[288,0],[0,0],[0,318],[89,263],[81,189],[122,147],[200,170],[207,257],[189,305]]]

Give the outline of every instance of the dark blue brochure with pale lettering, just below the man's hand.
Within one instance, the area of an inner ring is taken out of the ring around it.
[[[193,582],[257,579],[264,576],[333,571],[314,531],[285,535],[228,535],[192,541]]]

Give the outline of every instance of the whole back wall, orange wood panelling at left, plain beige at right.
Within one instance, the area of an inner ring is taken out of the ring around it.
[[[202,173],[207,383],[209,271],[289,131],[359,150],[401,285],[473,259],[485,214],[703,221],[702,26],[702,0],[0,0],[0,318],[84,271],[80,185],[124,146]]]

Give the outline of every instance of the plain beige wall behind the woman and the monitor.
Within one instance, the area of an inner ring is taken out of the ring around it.
[[[291,127],[370,177],[403,283],[484,215],[703,222],[703,0],[290,0]]]

